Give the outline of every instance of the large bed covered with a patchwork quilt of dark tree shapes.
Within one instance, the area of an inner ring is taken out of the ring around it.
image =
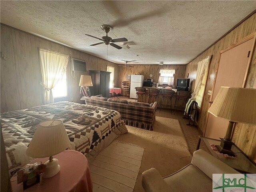
[[[37,125],[50,119],[62,120],[70,140],[68,149],[81,152],[89,163],[127,132],[119,112],[68,101],[4,112],[1,128],[10,175],[33,160],[26,155],[26,148]]]

